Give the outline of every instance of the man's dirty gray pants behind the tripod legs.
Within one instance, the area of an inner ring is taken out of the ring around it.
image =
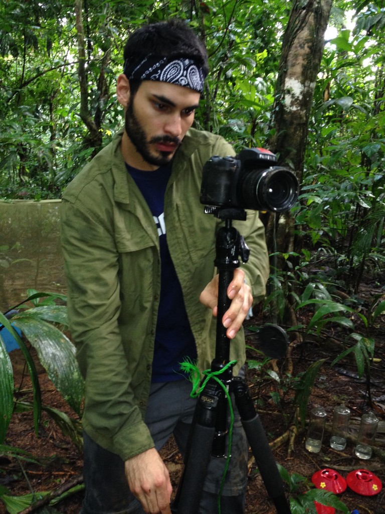
[[[187,380],[152,384],[145,421],[157,450],[174,434],[178,448],[184,454],[196,405],[190,392],[191,384]],[[236,409],[234,415],[232,457],[222,493],[221,514],[244,512],[248,446]],[[218,491],[224,468],[224,458],[210,458],[199,514],[218,512]],[[84,482],[86,494],[81,514],[144,514],[128,488],[124,462],[118,455],[100,447],[86,433]]]

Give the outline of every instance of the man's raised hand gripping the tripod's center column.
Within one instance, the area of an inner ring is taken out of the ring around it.
[[[223,315],[222,323],[227,328],[226,336],[229,339],[235,338],[253,304],[251,289],[245,284],[244,276],[243,270],[236,268],[233,280],[227,288],[227,296],[232,302]],[[199,297],[203,305],[213,309],[214,316],[218,314],[218,284],[219,276],[217,275],[206,285]]]

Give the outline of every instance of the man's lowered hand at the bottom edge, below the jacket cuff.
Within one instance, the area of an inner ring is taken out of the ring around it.
[[[130,491],[145,512],[171,514],[172,486],[168,470],[155,448],[129,458],[125,470]]]

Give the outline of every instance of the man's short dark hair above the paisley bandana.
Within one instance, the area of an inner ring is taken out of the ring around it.
[[[124,47],[124,62],[139,64],[149,54],[162,57],[187,58],[199,64],[207,75],[207,51],[195,32],[182,20],[145,25],[130,34]],[[131,94],[138,90],[140,81],[130,81]]]

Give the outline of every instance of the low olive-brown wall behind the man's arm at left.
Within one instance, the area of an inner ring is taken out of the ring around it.
[[[61,200],[0,200],[0,309],[27,289],[66,293],[60,248]]]

